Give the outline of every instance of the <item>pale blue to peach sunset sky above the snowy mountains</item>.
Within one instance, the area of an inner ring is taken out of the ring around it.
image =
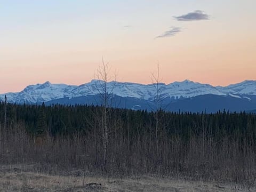
[[[255,0],[0,0],[0,93],[79,85],[109,62],[119,82],[226,86],[256,79]]]

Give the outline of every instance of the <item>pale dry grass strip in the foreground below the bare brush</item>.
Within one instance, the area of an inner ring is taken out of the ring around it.
[[[170,178],[134,177],[110,179],[33,171],[35,165],[0,167],[0,191],[253,191],[232,184],[173,180]],[[79,173],[77,171],[76,173]]]

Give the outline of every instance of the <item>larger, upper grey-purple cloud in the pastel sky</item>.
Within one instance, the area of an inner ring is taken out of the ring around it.
[[[210,16],[203,11],[194,11],[187,14],[174,17],[178,21],[198,21],[198,20],[209,20]]]

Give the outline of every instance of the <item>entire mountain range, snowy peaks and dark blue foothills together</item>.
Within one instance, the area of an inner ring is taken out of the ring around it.
[[[52,105],[100,105],[102,81],[93,79],[82,85],[43,84],[29,85],[21,92],[5,95],[10,103]],[[155,109],[155,84],[108,82],[108,92],[113,91],[113,107],[131,109]],[[114,89],[113,89],[114,87]],[[229,86],[212,86],[185,80],[170,84],[159,83],[161,107],[170,111],[207,111],[218,110],[249,111],[256,109],[256,81],[246,80]]]

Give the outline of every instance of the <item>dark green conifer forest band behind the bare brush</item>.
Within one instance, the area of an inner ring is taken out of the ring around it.
[[[0,120],[4,123],[5,107],[0,104]],[[108,108],[108,124],[111,127],[122,126],[124,136],[137,138],[143,133],[154,131],[155,112]],[[254,114],[229,113],[219,111],[215,114],[177,113],[159,110],[160,135],[173,134],[189,139],[192,135],[211,134],[215,139],[225,135],[255,140],[256,116]],[[22,123],[29,134],[36,136],[70,136],[75,133],[87,134],[97,126],[101,118],[99,106],[63,106],[63,105],[16,105],[7,104],[7,125]],[[2,125],[3,126],[3,125]],[[118,127],[118,128],[119,128]],[[127,134],[130,131],[130,134]],[[125,134],[126,133],[126,134]],[[127,138],[128,139],[128,138]]]

